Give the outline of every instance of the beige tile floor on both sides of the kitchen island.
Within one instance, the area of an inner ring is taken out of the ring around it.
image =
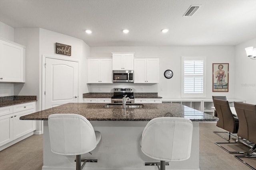
[[[200,122],[200,170],[251,170],[214,144],[224,141],[213,131],[223,131],[216,122]],[[256,164],[255,160],[252,160]],[[42,170],[43,135],[33,135],[0,151],[0,170]],[[157,169],[157,168],[156,168]]]

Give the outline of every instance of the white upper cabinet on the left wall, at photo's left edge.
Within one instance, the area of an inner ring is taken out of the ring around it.
[[[25,47],[0,38],[0,82],[25,82]]]

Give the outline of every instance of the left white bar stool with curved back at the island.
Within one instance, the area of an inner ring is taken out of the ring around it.
[[[52,114],[48,117],[50,145],[52,152],[62,155],[76,155],[76,170],[82,170],[81,154],[90,153],[100,142],[101,133],[94,131],[92,124],[82,115]],[[91,153],[90,153],[91,154]]]

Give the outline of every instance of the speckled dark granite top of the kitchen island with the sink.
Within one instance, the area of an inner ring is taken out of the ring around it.
[[[217,117],[181,104],[144,104],[142,108],[104,108],[102,103],[68,103],[20,117],[21,120],[48,120],[56,113],[75,113],[89,121],[150,121],[155,117],[186,117],[191,121],[218,121]]]

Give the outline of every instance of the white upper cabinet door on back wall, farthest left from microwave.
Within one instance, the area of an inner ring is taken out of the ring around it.
[[[88,59],[88,83],[99,83],[100,59]]]

